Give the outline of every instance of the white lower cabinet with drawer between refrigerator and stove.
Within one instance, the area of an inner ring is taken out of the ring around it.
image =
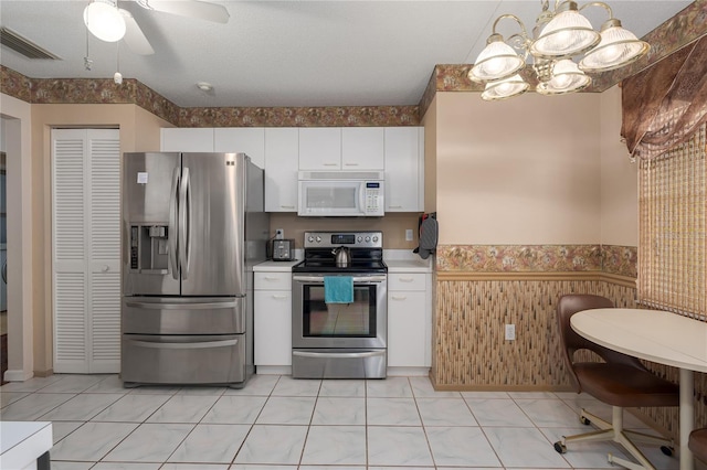
[[[292,365],[292,273],[255,273],[255,366]]]

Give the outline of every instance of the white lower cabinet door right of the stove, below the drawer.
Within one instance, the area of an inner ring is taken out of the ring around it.
[[[426,351],[426,293],[388,291],[388,365],[429,367]]]

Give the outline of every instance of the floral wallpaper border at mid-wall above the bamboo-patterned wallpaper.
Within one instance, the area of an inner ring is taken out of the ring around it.
[[[636,277],[637,248],[614,245],[441,245],[437,271],[602,271]]]

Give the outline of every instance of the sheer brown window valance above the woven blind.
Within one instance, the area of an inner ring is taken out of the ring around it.
[[[707,120],[707,36],[623,81],[621,136],[629,152],[655,158]]]

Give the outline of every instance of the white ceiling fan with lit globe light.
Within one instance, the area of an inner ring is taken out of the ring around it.
[[[217,23],[228,23],[230,18],[225,7],[200,0],[125,1],[135,1],[147,10]],[[136,54],[150,55],[155,53],[133,14],[128,10],[119,8],[117,0],[89,0],[88,6],[84,9],[84,23],[93,35],[103,41],[117,42],[124,39],[127,46]]]

